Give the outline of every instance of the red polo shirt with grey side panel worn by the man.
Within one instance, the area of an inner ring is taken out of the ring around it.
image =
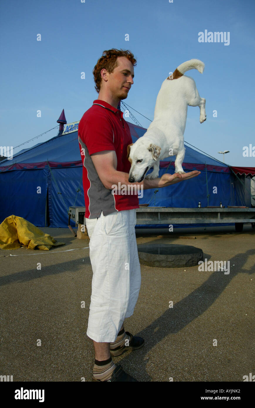
[[[132,137],[123,112],[102,100],[95,100],[78,126],[78,139],[83,162],[83,188],[85,199],[85,217],[97,218],[114,211],[139,208],[137,194],[112,194],[102,184],[91,154],[105,150],[115,150],[117,156],[117,171],[129,173],[131,164],[127,159],[127,146],[132,143]],[[116,183],[118,187],[118,183]]]

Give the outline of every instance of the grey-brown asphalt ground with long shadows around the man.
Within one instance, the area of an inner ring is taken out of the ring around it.
[[[13,381],[91,381],[86,328],[93,273],[89,249],[82,249],[88,242],[68,228],[40,229],[65,245],[0,251],[0,374]],[[196,246],[208,261],[230,261],[230,273],[141,265],[139,298],[124,327],[145,344],[113,361],[138,381],[244,381],[255,374],[255,229],[176,231],[136,229],[137,244]]]

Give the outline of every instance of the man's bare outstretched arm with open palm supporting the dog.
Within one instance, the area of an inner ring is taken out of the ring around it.
[[[95,166],[95,169],[98,173],[102,184],[105,188],[111,190],[113,184],[118,186],[118,182],[121,185],[128,186],[129,184],[143,186],[144,190],[148,188],[160,188],[170,186],[171,184],[178,183],[183,180],[188,180],[190,178],[198,176],[200,171],[191,171],[190,173],[185,174],[169,174],[165,173],[162,177],[157,177],[153,180],[144,179],[140,183],[130,183],[129,182],[129,173],[124,173],[122,171],[117,171],[117,156],[115,150],[106,150],[98,153],[91,154],[92,162]]]

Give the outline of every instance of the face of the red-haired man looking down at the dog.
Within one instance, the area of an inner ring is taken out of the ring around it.
[[[113,98],[122,100],[127,98],[129,89],[134,83],[134,67],[126,57],[118,57],[117,62],[118,66],[114,71],[107,73],[108,81],[104,82],[104,85]]]

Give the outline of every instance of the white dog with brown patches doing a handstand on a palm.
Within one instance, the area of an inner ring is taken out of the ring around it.
[[[200,98],[193,78],[183,75],[190,69],[204,71],[200,60],[189,60],[164,80],[157,95],[154,120],[146,133],[128,146],[128,159],[131,162],[129,182],[141,182],[153,167],[147,179],[158,177],[160,160],[176,155],[175,173],[185,173],[182,162],[185,155],[184,130],[187,119],[187,106],[200,107],[200,123],[206,120],[205,99]]]

